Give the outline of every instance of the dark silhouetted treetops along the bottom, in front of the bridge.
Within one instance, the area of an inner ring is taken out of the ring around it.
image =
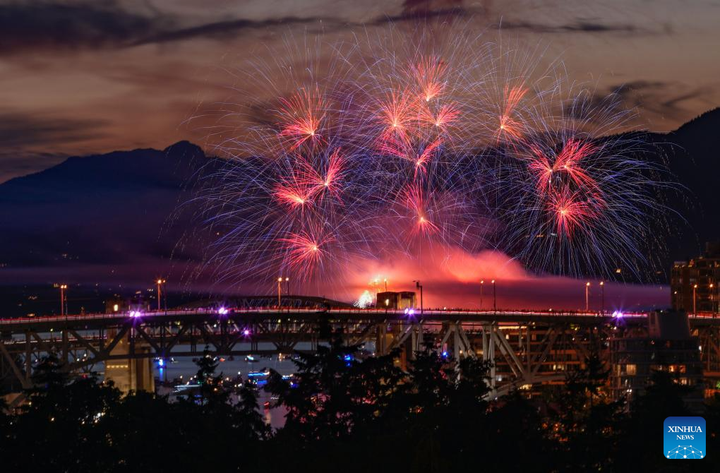
[[[193,394],[171,401],[121,393],[93,375],[70,378],[50,355],[15,413],[0,413],[4,471],[45,472],[642,472],[717,471],[720,455],[668,462],[660,425],[689,414],[686,388],[665,371],[644,395],[612,402],[595,353],[559,395],[511,392],[488,400],[490,366],[454,361],[426,344],[401,367],[400,353],[356,358],[358,346],[323,328],[317,353],[298,353],[292,384],[271,372],[266,389],[287,410],[271,432],[251,385],[230,390],[204,351]],[[708,404],[708,451],[720,451]],[[690,465],[691,464],[691,465]],[[29,469],[30,468],[30,469]]]

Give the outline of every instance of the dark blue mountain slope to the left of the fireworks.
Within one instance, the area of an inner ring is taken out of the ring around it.
[[[68,158],[7,181],[0,185],[0,267],[67,273],[168,258],[182,231],[168,217],[208,163],[201,148],[180,142]]]

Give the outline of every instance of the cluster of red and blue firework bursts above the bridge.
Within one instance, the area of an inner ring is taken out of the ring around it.
[[[226,159],[202,217],[220,279],[328,281],[438,248],[570,276],[652,266],[663,170],[621,133],[633,112],[618,97],[539,68],[537,50],[398,34],[289,40],[243,67],[238,81],[272,99],[238,90],[216,110]]]

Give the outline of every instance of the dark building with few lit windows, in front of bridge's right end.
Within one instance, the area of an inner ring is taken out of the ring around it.
[[[648,335],[622,335],[610,341],[611,394],[631,400],[642,394],[653,371],[670,371],[678,382],[695,388],[685,401],[703,402],[703,364],[698,338],[690,335],[685,312],[651,312]]]

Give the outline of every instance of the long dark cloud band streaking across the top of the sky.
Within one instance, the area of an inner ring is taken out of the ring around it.
[[[148,10],[147,14],[121,8],[114,1],[63,4],[56,2],[13,2],[0,5],[0,54],[27,50],[79,50],[128,48],[135,45],[166,43],[194,38],[227,40],[251,30],[292,24],[322,24],[324,31],[346,27],[374,26],[387,23],[487,17],[487,6],[467,8],[461,1],[405,1],[398,14],[383,15],[368,22],[348,22],[337,17],[269,17],[267,19],[228,19],[190,27],[192,19],[174,17]],[[631,24],[603,24],[588,19],[572,23],[502,21],[505,30],[536,33],[643,33]]]

